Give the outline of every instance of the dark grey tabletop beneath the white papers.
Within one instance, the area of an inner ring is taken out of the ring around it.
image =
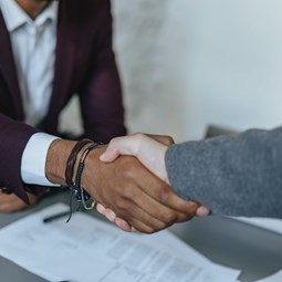
[[[62,192],[46,197],[24,211],[0,213],[0,228],[58,201],[67,203],[69,195]],[[97,212],[93,215],[103,220]],[[222,217],[196,218],[175,224],[170,230],[211,261],[240,269],[242,282],[254,281],[282,269],[282,234]],[[45,282],[1,257],[0,281]]]

